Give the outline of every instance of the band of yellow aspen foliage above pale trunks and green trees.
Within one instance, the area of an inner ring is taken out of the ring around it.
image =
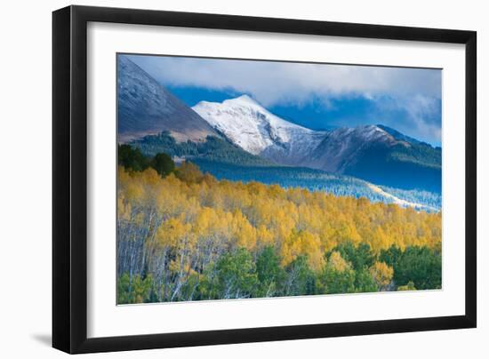
[[[153,221],[157,227],[184,213],[197,236],[249,249],[265,244],[280,248],[294,231],[308,233],[318,251],[331,251],[345,242],[368,243],[376,254],[392,245],[404,250],[413,245],[438,248],[441,243],[441,213],[303,188],[218,181],[193,164],[182,164],[177,176],[165,178],[152,169],[119,168],[118,185],[119,219],[136,219],[148,227],[146,222]],[[142,211],[144,215],[138,214]]]

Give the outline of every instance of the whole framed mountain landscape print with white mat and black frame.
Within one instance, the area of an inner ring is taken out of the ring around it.
[[[476,327],[476,32],[52,24],[53,347]]]

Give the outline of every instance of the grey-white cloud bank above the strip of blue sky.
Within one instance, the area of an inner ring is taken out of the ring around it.
[[[441,70],[130,56],[162,84],[248,93],[265,107],[363,97],[404,111],[424,137],[440,138]]]

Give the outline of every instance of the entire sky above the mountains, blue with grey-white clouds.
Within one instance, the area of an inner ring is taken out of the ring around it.
[[[385,124],[441,144],[441,70],[131,55],[188,106],[248,94],[311,129]]]

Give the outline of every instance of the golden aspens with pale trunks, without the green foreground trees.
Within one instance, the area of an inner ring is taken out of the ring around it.
[[[335,251],[342,243],[368,244],[375,255],[392,246],[401,251],[441,247],[441,213],[302,188],[216,180],[193,164],[182,164],[164,178],[152,169],[119,168],[117,211],[117,273],[119,278],[128,275],[124,291],[132,290],[132,275],[139,275],[138,280],[149,275],[153,291],[156,288],[155,298],[149,301],[196,299],[203,283],[220,283],[228,286],[223,293],[231,292],[234,287],[229,281],[250,274],[236,268],[235,276],[221,280],[218,269],[225,263],[226,268],[236,267],[236,258],[224,256],[238,250],[245,251],[239,257],[242,267],[253,269],[261,253],[272,248],[277,253],[275,271],[306,259],[305,265],[314,273],[355,275],[351,263]],[[362,275],[384,290],[391,283],[393,268],[377,260]],[[277,283],[267,285],[277,287]],[[314,285],[327,290],[327,283]],[[214,297],[221,295],[215,293]]]

